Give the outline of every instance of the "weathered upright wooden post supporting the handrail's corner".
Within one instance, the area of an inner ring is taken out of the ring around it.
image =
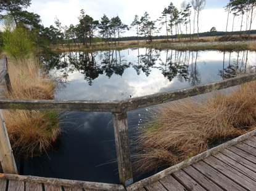
[[[133,184],[127,114],[126,112],[112,113],[112,117],[115,130],[119,179],[120,183],[126,187]]]

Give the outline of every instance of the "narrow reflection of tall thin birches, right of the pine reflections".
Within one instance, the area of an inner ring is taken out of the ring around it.
[[[189,79],[188,79],[189,84],[191,86],[201,84],[201,77],[200,77],[200,74],[198,72],[197,65],[196,65],[197,57],[198,57],[198,52],[196,52],[196,58],[194,61],[194,52],[192,52],[192,63],[190,65],[191,67],[189,68]]]

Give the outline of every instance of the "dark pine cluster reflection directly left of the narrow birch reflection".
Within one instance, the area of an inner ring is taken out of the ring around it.
[[[159,68],[162,71],[163,76],[170,80],[170,82],[177,76],[178,80],[181,82],[183,80],[188,80],[187,57],[187,52],[175,51],[173,55],[173,50],[171,50],[170,55],[168,55],[167,50],[165,62],[162,61],[162,63],[160,63],[161,67]]]

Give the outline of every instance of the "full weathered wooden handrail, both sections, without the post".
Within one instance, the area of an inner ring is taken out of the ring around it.
[[[79,101],[79,100],[34,100],[34,99],[0,99],[0,109],[28,109],[57,111],[91,111],[122,113],[147,106],[154,106],[178,99],[214,92],[256,80],[256,74],[247,74],[232,79],[210,84],[198,85],[171,92],[156,93],[123,101]]]

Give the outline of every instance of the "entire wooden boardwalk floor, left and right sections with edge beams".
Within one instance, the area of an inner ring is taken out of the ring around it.
[[[256,130],[136,182],[126,190],[256,190]],[[191,163],[191,164],[189,164]],[[187,165],[189,164],[189,165]],[[168,174],[168,171],[173,173]],[[166,173],[167,172],[167,173]],[[122,190],[123,185],[0,174],[0,191]]]

